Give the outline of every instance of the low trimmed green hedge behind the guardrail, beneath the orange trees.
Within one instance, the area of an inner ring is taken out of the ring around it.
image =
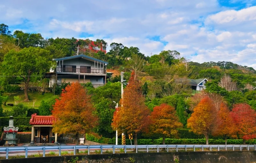
[[[86,139],[101,144],[115,144],[115,138],[97,138],[93,135],[86,135]],[[162,144],[163,139],[138,139],[138,145],[145,144]],[[121,144],[121,139],[118,139],[118,144]],[[126,144],[131,144],[131,140],[126,139]],[[134,139],[132,139],[134,144]],[[165,139],[165,144],[206,144],[206,139]],[[224,139],[209,139],[209,144],[225,144]],[[228,139],[227,144],[243,144],[242,139]],[[247,140],[246,144],[256,144],[256,139]]]

